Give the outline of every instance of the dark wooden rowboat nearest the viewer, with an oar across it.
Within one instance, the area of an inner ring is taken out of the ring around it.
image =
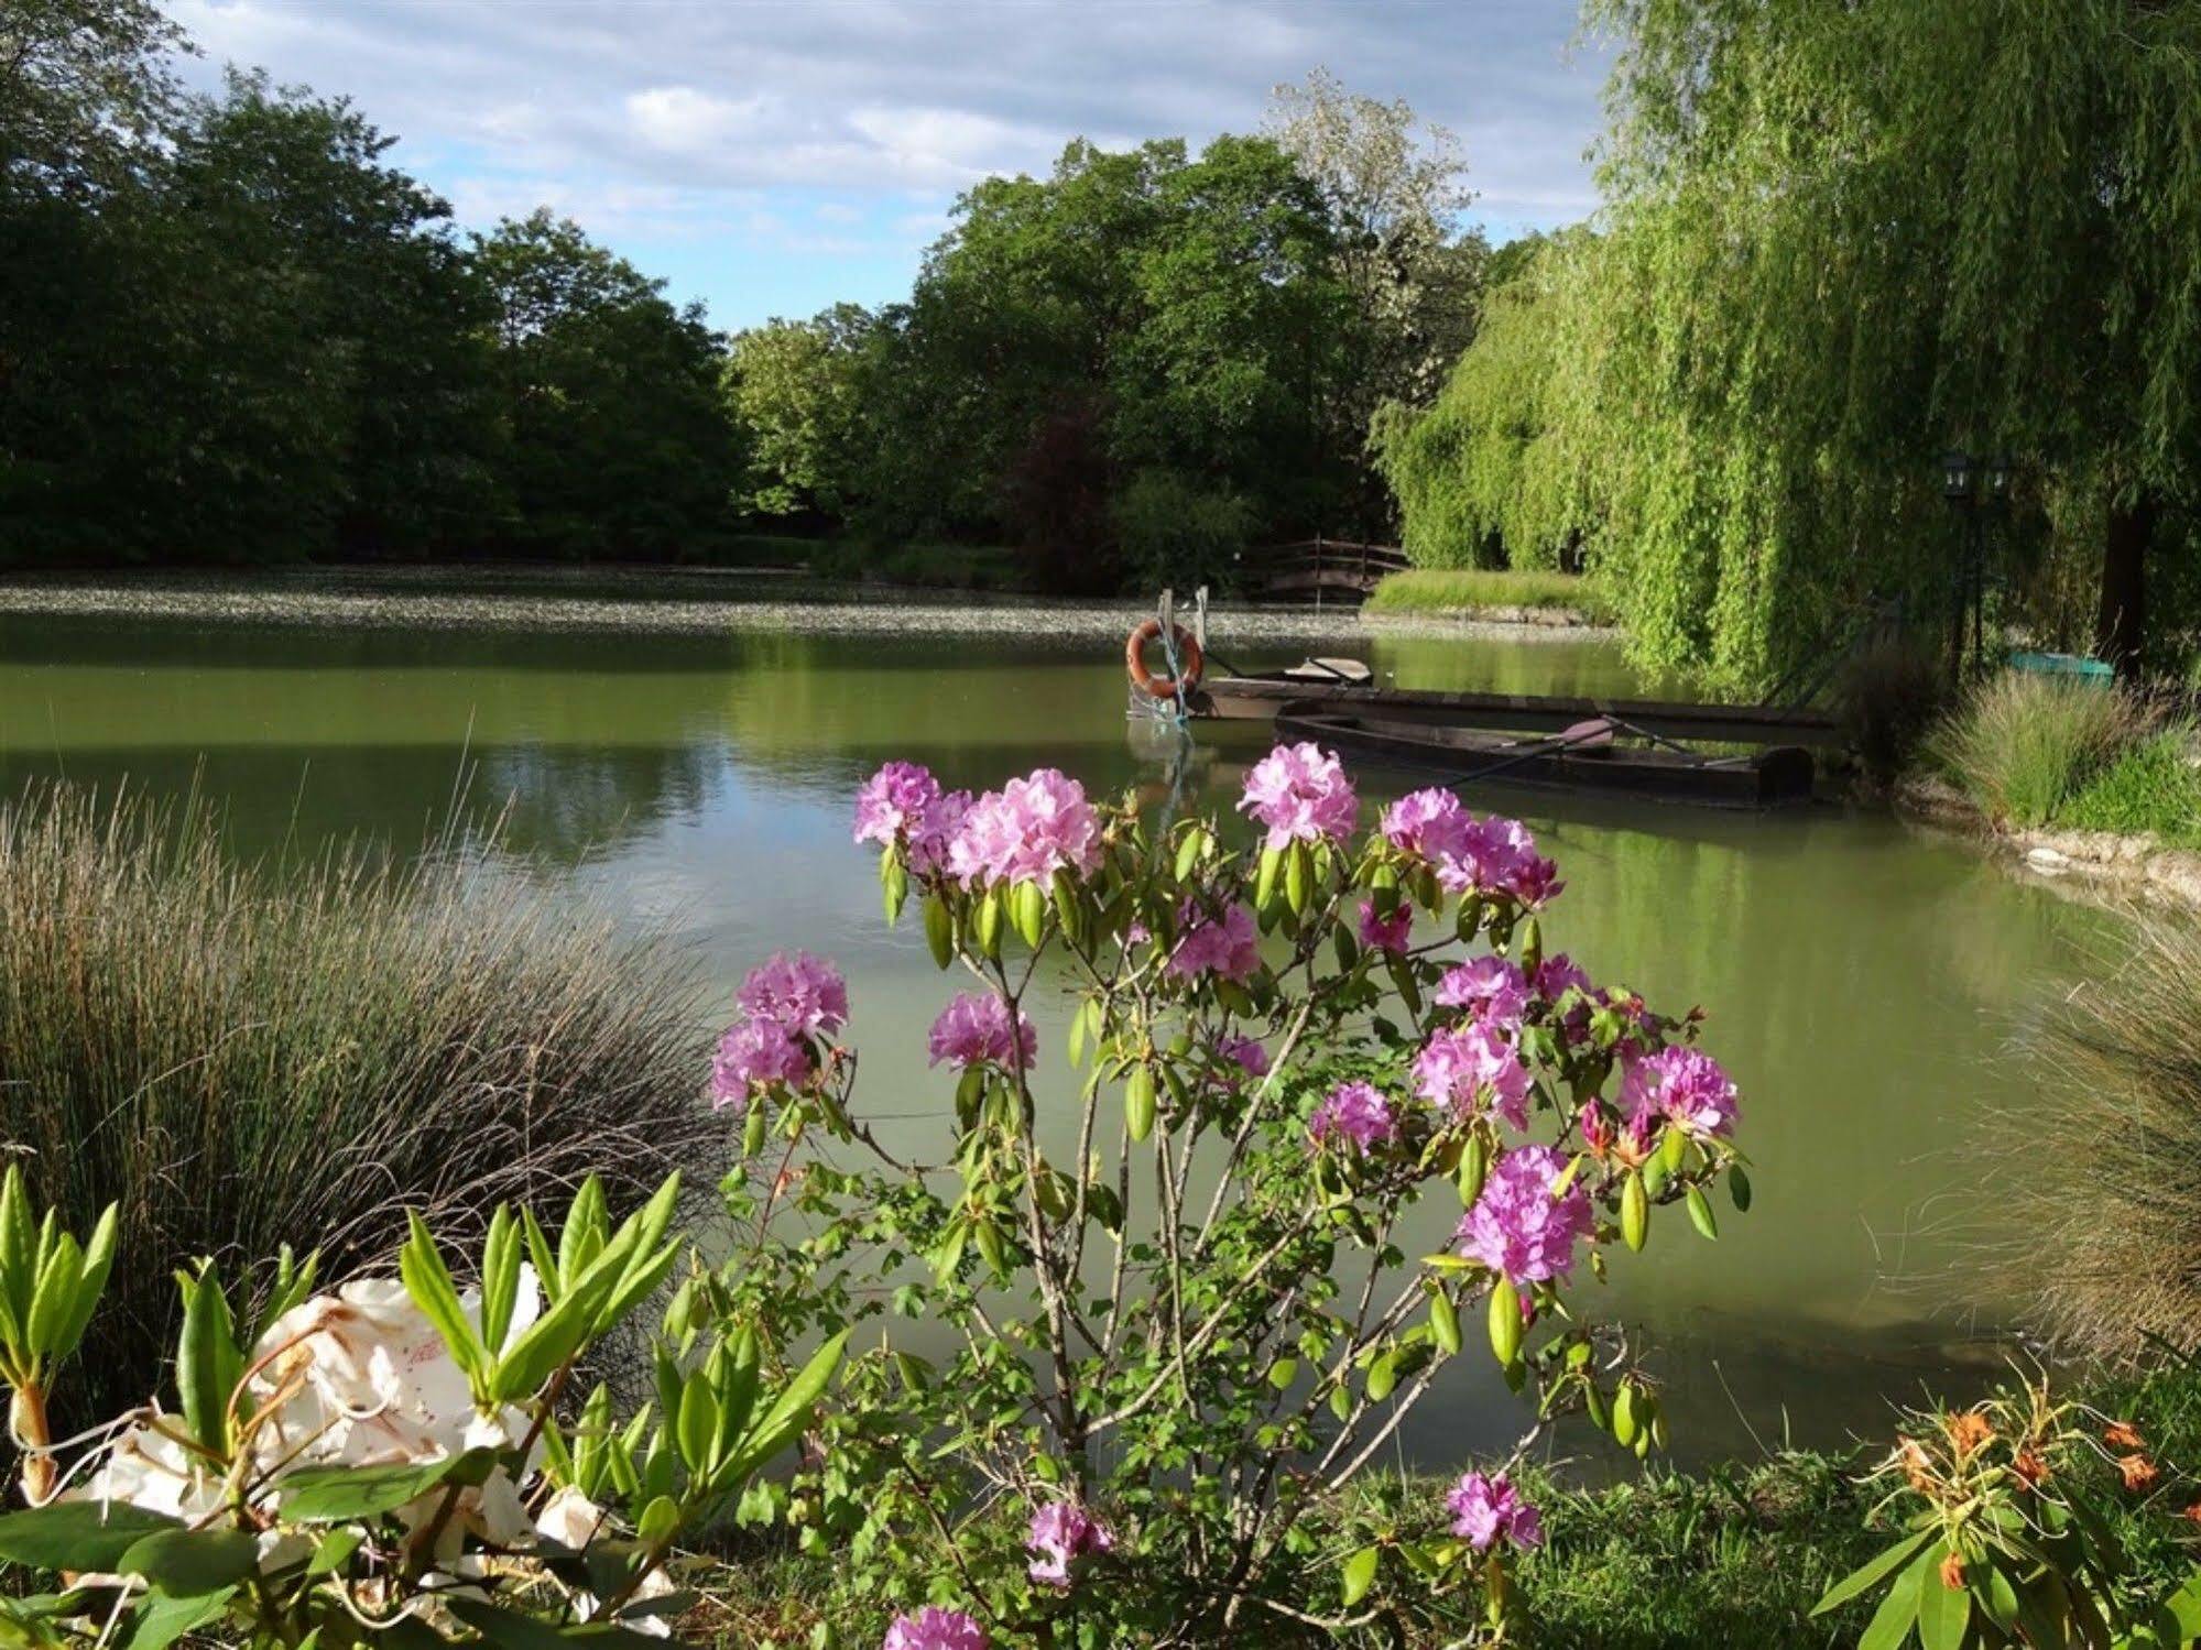
[[[1690,757],[1657,746],[1569,748],[1550,739],[1508,741],[1479,728],[1398,722],[1323,702],[1285,704],[1277,735],[1314,739],[1347,755],[1424,768],[1450,779],[1569,790],[1710,807],[1774,807],[1811,796],[1811,752],[1772,746],[1748,757]]]

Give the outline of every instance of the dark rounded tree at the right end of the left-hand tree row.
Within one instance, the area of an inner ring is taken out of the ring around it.
[[[740,473],[702,308],[535,211],[473,242],[495,301],[504,539],[669,554],[724,526]]]

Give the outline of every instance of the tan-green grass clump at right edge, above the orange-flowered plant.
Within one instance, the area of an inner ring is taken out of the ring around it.
[[[2012,1285],[2049,1333],[2093,1353],[2201,1344],[2201,928],[2148,917],[2023,1052],[2047,1096],[1996,1118]]]

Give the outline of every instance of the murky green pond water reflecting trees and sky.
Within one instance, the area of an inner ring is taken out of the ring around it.
[[[931,1137],[953,1082],[922,1047],[946,988],[916,924],[878,920],[852,792],[905,757],[951,785],[1050,763],[1164,801],[1167,741],[1125,719],[1116,638],[1131,614],[779,612],[729,609],[715,629],[709,614],[651,629],[585,612],[504,627],[414,609],[163,618],[158,601],[0,612],[0,790],[55,774],[196,785],[240,851],[350,834],[418,845],[464,794],[473,818],[504,814],[513,856],[698,946],[726,994],[775,948],[834,957],[865,1107]],[[1336,618],[1224,625],[1217,640],[1246,669],[1358,653],[1402,686],[1635,686],[1600,640],[1340,634]],[[1268,739],[1206,726],[1195,744],[1182,801],[1228,807]],[[1415,783],[1360,772],[1369,803]],[[1717,1245],[1671,1219],[1644,1256],[1620,1256],[1611,1287],[1585,1287],[1655,1346],[1677,1452],[1875,1434],[1926,1384],[1992,1379],[2007,1342],[1981,1256],[2021,1234],[1979,1188],[1983,1113],[2036,1098],[2001,1052],[2113,939],[2109,920],[1871,812],[1468,796],[1525,818],[1558,858],[1547,944],[1660,1008],[1701,1003],[1706,1045],[1743,1089],[1752,1212],[1726,1212]],[[1043,1023],[1054,1076],[1061,1021]],[[1450,1219],[1431,1208],[1415,1241],[1435,1247]],[[1519,1401],[1464,1360],[1406,1450],[1444,1461],[1519,1426]]]

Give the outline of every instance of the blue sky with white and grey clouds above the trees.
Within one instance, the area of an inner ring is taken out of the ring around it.
[[[165,0],[343,92],[486,229],[539,205],[755,326],[907,297],[955,196],[1063,143],[1204,143],[1329,68],[1466,150],[1492,240],[1585,218],[1607,51],[1569,0]]]

